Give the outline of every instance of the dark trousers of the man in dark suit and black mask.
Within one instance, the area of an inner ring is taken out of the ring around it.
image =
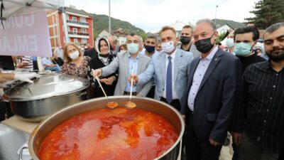
[[[187,140],[186,156],[187,160],[219,160],[222,145],[214,146],[208,139],[198,139],[192,125],[192,114],[187,119]]]

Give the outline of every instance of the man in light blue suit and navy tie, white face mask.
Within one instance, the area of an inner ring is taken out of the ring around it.
[[[193,60],[193,55],[176,48],[178,38],[175,28],[164,26],[160,31],[160,38],[163,52],[153,55],[150,65],[143,73],[133,74],[131,77],[134,84],[143,85],[149,82],[155,73],[155,99],[167,102],[180,111],[180,100],[186,91],[187,68]]]

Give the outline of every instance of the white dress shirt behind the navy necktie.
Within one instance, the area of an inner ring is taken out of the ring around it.
[[[166,88],[166,84],[167,84],[167,70],[168,70],[168,56],[172,57],[171,61],[172,61],[172,94],[173,94],[173,100],[179,99],[177,92],[175,92],[175,83],[174,83],[174,70],[175,70],[175,53],[177,52],[177,48],[175,48],[175,51],[171,54],[168,55],[167,53],[165,53],[165,87]],[[166,93],[165,90],[163,92],[163,97],[166,98]]]

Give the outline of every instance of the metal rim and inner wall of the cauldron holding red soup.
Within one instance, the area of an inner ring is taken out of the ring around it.
[[[119,105],[124,105],[125,102],[129,101],[129,97],[126,96],[114,96],[109,97],[109,100],[118,102]],[[137,107],[143,110],[149,110],[151,112],[155,112],[157,114],[162,115],[169,122],[175,126],[178,130],[179,137],[175,144],[165,151],[165,153],[159,156],[157,159],[163,160],[176,160],[178,159],[178,154],[180,152],[180,141],[182,139],[182,134],[185,131],[185,122],[183,121],[180,113],[175,110],[170,105],[160,102],[158,100],[153,100],[145,97],[133,97],[133,102],[136,103]],[[56,127],[58,124],[64,122],[66,119],[72,117],[75,114],[80,114],[82,112],[87,112],[90,110],[97,110],[100,108],[104,108],[107,105],[107,100],[105,98],[97,98],[93,100],[87,100],[84,102],[80,102],[75,105],[71,105],[70,107],[65,107],[64,109],[56,112],[55,114],[45,119],[41,122],[38,127],[33,130],[31,137],[28,142],[28,149],[31,153],[31,156],[34,160],[38,159],[38,151],[40,149],[40,145],[45,139],[45,137]],[[103,159],[100,159],[103,160]]]

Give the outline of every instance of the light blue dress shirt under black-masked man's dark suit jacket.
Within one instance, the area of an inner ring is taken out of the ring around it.
[[[187,105],[190,107],[190,110],[194,110],[195,106],[195,96],[197,94],[198,89],[200,88],[200,84],[202,82],[202,79],[206,73],[206,70],[215,55],[215,53],[218,50],[218,46],[216,46],[209,55],[207,55],[206,58],[202,58],[200,55],[200,62],[197,65],[197,68],[195,70],[195,74],[193,75],[192,85],[190,87],[190,94],[188,95],[187,99]],[[204,97],[206,98],[206,97]]]

